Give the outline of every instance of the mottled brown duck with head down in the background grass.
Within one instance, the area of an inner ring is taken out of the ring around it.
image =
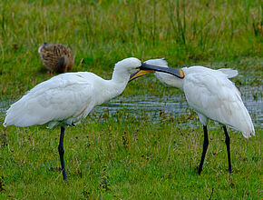
[[[49,75],[51,72],[62,74],[73,69],[73,53],[66,45],[44,43],[39,46],[38,53],[44,66],[49,70]]]

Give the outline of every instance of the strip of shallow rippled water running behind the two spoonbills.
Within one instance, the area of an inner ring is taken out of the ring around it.
[[[242,87],[239,88],[244,104],[251,115],[255,127],[263,128],[263,100],[262,100],[262,86],[260,87]],[[259,93],[259,94],[258,94]],[[255,94],[258,94],[257,96]],[[5,110],[9,105],[14,103],[14,100],[0,101],[0,117],[5,117]],[[104,112],[108,115],[118,117],[117,112],[125,109],[125,113],[129,116],[145,116],[147,115],[152,123],[158,123],[163,118],[160,115],[170,115],[175,119],[182,115],[190,115],[189,105],[183,94],[177,95],[137,95],[137,96],[118,96],[110,102],[103,105],[96,106],[90,115],[99,116]],[[196,115],[196,114],[195,114]],[[196,115],[197,116],[197,115]],[[119,116],[120,117],[120,116]],[[197,117],[196,117],[197,118]],[[192,120],[186,120],[186,125],[196,124]],[[200,125],[200,123],[198,123]]]

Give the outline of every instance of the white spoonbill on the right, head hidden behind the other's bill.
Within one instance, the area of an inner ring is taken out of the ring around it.
[[[151,59],[145,63],[168,67],[167,62],[163,59]],[[238,71],[226,68],[213,70],[204,66],[184,67],[182,71],[183,78],[161,72],[156,72],[155,75],[162,83],[182,90],[190,107],[200,117],[204,131],[204,143],[199,174],[202,171],[202,165],[209,146],[207,131],[209,119],[223,125],[228,151],[229,173],[231,173],[230,139],[226,125],[240,131],[246,138],[255,135],[254,126],[248,110],[242,102],[239,90],[229,80],[229,78],[238,75]]]

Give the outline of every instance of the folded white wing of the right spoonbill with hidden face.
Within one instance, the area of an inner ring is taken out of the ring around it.
[[[187,101],[199,114],[229,125],[242,132],[245,137],[255,135],[239,90],[226,75],[217,71],[209,74],[193,73],[186,75],[183,81]]]

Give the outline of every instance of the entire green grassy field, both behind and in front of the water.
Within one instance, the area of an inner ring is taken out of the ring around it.
[[[69,45],[73,71],[103,78],[129,56],[165,57],[170,66],[235,68],[236,85],[251,87],[253,98],[262,100],[262,40],[259,0],[2,0],[0,101],[8,104],[49,78],[37,53],[44,42]],[[122,95],[175,93],[180,91],[148,75]],[[161,112],[152,123],[140,112],[128,115],[123,105],[113,117],[90,115],[67,128],[67,183],[59,170],[59,128],[4,128],[1,115],[0,198],[262,199],[262,125],[249,139],[229,129],[229,175],[223,131],[211,123],[204,171],[197,175],[203,140],[197,115]],[[195,125],[185,125],[189,121]]]

